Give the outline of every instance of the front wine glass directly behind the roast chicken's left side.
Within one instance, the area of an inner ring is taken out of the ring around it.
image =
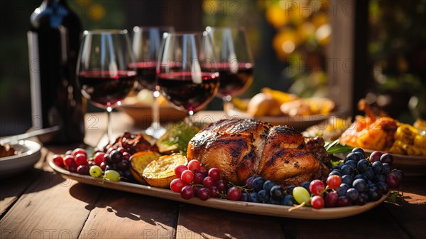
[[[207,32],[165,33],[157,73],[160,93],[187,112],[192,125],[192,115],[212,100],[219,87],[217,59]]]

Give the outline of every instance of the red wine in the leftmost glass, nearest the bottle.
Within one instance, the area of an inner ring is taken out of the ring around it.
[[[98,107],[113,107],[133,89],[136,71],[118,70],[111,74],[108,70],[87,70],[80,72],[78,79],[84,97]]]

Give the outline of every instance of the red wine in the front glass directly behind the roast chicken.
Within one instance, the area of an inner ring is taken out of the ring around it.
[[[161,73],[160,91],[180,110],[197,112],[214,97],[219,87],[217,73],[201,73],[201,83],[194,83],[190,72]]]

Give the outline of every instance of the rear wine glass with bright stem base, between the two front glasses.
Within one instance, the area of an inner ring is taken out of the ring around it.
[[[160,92],[156,89],[156,70],[158,51],[164,33],[172,33],[175,28],[172,26],[135,26],[132,36],[132,50],[136,58],[136,70],[138,75],[137,90],[147,89],[153,92],[153,121],[146,129],[146,134],[155,138],[165,133],[165,128],[160,124],[160,114],[157,98]]]

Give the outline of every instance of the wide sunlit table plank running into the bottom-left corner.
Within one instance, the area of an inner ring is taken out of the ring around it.
[[[45,171],[1,219],[0,238],[77,238],[98,196],[97,187]]]

